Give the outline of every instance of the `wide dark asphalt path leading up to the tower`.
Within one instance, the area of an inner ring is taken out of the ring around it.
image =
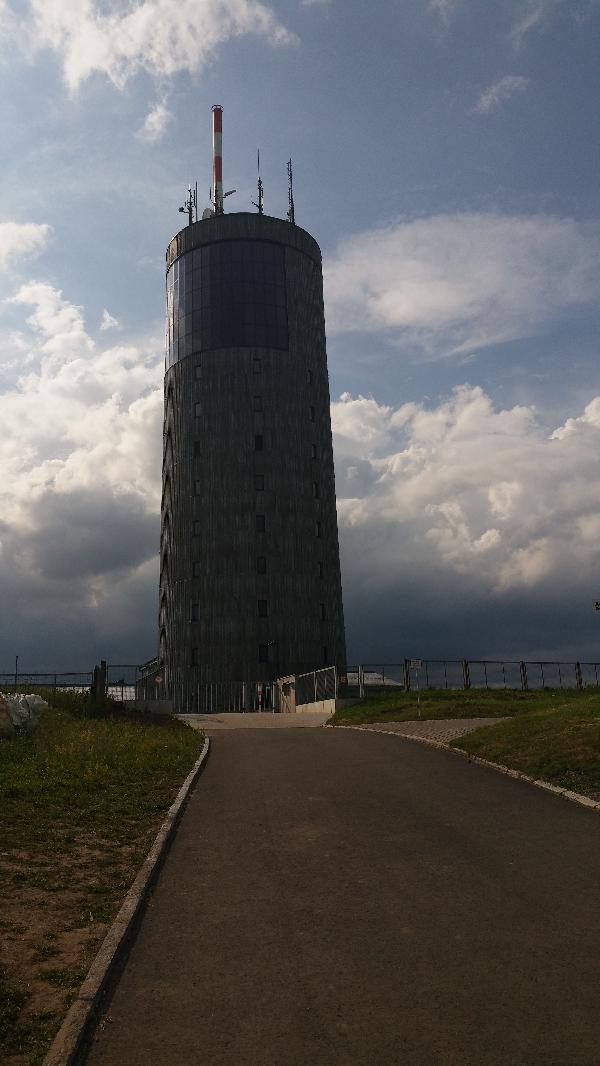
[[[600,819],[376,732],[217,733],[91,1066],[598,1066]]]

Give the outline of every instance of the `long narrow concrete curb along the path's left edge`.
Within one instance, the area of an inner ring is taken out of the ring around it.
[[[159,873],[162,861],[175,836],[177,824],[188,796],[200,772],[204,769],[210,749],[210,740],[205,739],[199,759],[192,768],[183,785],[179,789],[167,815],[161,825],[157,838],[141,867],[135,881],[112,923],[96,958],[92,963],[77,999],[69,1007],[66,1017],[56,1033],[44,1066],[75,1066],[79,1055],[90,1037],[96,1021],[96,1008],[102,992],[115,971],[117,964],[126,954],[132,939],[135,924],[141,917],[144,903]]]

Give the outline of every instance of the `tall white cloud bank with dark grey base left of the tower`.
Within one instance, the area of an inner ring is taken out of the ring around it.
[[[75,668],[117,645],[143,659],[156,642],[158,345],[98,348],[82,308],[47,282],[12,303],[27,351],[0,393],[0,646],[18,640],[54,668],[68,649]]]

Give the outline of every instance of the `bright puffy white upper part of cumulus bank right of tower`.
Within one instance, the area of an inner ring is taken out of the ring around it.
[[[588,589],[600,565],[600,398],[553,433],[476,386],[434,407],[333,404],[342,539],[371,579],[468,576],[483,592]],[[357,474],[358,471],[358,474]],[[395,574],[394,574],[395,571]],[[432,589],[429,588],[429,595]]]

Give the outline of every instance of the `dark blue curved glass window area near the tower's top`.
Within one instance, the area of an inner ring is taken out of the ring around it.
[[[166,275],[166,369],[192,352],[289,348],[285,248],[220,241],[180,255]]]

